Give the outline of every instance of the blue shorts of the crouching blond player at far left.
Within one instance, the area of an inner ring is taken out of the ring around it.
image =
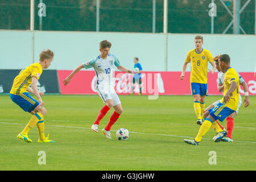
[[[25,112],[30,113],[35,109],[36,106],[39,105],[39,102],[28,95],[27,92],[20,93],[18,96],[14,94],[10,94],[11,100],[20,108],[22,108]]]

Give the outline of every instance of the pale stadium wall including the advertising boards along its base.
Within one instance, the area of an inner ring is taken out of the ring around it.
[[[256,36],[254,35],[203,35],[204,47],[212,52],[228,53],[232,67],[249,85],[250,95],[256,95],[255,69]],[[137,56],[143,67],[143,94],[191,94],[189,86],[189,67],[185,80],[181,81],[180,71],[187,52],[192,49],[194,34],[168,35],[168,71],[164,72],[164,35],[110,32],[55,32],[35,31],[35,61],[42,49],[52,49],[55,59],[40,78],[39,89],[46,93],[61,94],[97,94],[94,90],[95,73],[80,71],[81,76],[73,78],[70,85],[64,87],[63,78],[77,65],[99,54],[98,44],[103,39],[113,43],[115,53],[122,65],[133,69],[133,57]],[[20,69],[32,63],[31,31],[0,31],[0,94],[9,93],[15,75]],[[222,51],[224,50],[224,51]],[[52,71],[51,74],[50,72]],[[79,75],[78,74],[78,75]],[[48,75],[48,76],[47,76]],[[208,74],[209,94],[221,94],[217,90],[217,72]],[[53,81],[52,81],[53,80]],[[115,89],[118,94],[130,93],[131,76],[117,72]],[[150,85],[150,86],[148,86]],[[42,88],[41,88],[42,87]],[[138,85],[135,86],[138,90]],[[241,94],[243,91],[241,89]]]

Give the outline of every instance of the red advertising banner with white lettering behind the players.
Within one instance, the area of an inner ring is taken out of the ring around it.
[[[97,94],[95,88],[97,76],[94,71],[79,71],[69,85],[64,86],[63,80],[72,71],[57,71],[59,76],[61,94]],[[185,73],[184,80],[180,80],[181,72],[143,72],[142,94],[145,95],[190,95],[190,72]],[[217,89],[217,75],[208,73],[208,94],[221,95]],[[256,78],[253,72],[240,72],[247,82],[249,94],[256,96]],[[130,94],[133,75],[123,72],[115,72],[115,92],[117,94]],[[139,85],[134,84],[134,93],[139,93]],[[243,88],[240,86],[243,95]]]

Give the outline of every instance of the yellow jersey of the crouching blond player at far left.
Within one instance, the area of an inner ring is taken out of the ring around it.
[[[10,93],[19,95],[20,93],[27,92],[28,86],[31,84],[32,76],[40,78],[43,72],[42,65],[34,63],[29,65],[27,68],[22,69],[19,75],[14,78],[13,87]]]

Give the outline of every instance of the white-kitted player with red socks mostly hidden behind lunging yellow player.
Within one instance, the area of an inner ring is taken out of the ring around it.
[[[218,57],[220,57],[220,55],[218,55]],[[216,68],[218,70],[218,91],[223,93],[224,90],[224,75],[225,73],[223,73],[221,71],[220,65],[219,65],[219,61],[215,60],[215,64],[216,64]],[[250,101],[249,101],[249,92],[248,92],[248,85],[246,84],[245,80],[243,80],[243,78],[239,75],[239,73],[237,73],[239,79],[240,79],[240,84],[243,87],[243,90],[245,91],[245,100],[243,100],[243,104],[245,105],[245,107],[249,106]],[[212,109],[213,107],[217,106],[218,103],[220,103],[221,100],[218,100],[216,102],[214,102],[212,105],[208,106],[205,110],[204,110],[204,118],[206,118],[209,115],[209,110]],[[238,107],[236,112],[230,114],[227,118],[226,118],[226,129],[227,132],[225,131],[224,127],[222,127],[220,125],[220,123],[217,124],[218,126],[220,126],[220,128],[222,130],[224,130],[224,133],[226,133],[226,137],[222,137],[221,140],[224,142],[233,142],[232,140],[232,132],[233,132],[233,128],[234,128],[234,117],[238,114],[238,110],[240,108],[242,104],[242,97],[241,95],[239,96],[239,102],[238,102]],[[222,135],[222,133],[217,133],[214,137],[213,140],[216,140],[217,138],[220,137],[220,135]],[[218,140],[220,142],[220,140]]]

